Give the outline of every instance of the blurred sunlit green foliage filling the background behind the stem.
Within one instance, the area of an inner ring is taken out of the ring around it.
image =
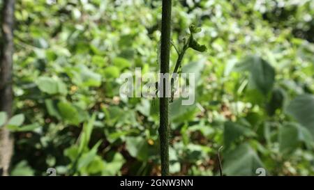
[[[159,72],[160,19],[154,0],[16,1],[10,175],[160,175],[158,100],[118,79]],[[221,146],[224,175],[314,175],[314,1],[173,1],[176,47],[190,24],[208,50],[182,63],[197,88],[170,104],[171,175],[219,175]]]

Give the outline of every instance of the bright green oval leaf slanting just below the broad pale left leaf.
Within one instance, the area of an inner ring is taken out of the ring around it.
[[[72,125],[78,125],[80,122],[79,113],[69,102],[59,102],[57,104],[59,113],[64,121]]]

